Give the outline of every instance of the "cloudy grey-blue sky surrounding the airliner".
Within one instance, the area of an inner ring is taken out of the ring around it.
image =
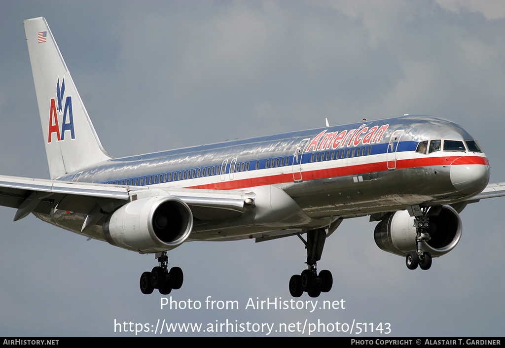
[[[422,114],[463,126],[484,148],[491,182],[505,181],[503,2],[0,0],[3,175],[49,177],[23,28],[40,16],[114,156],[317,128],[325,118]],[[146,296],[138,283],[154,256],[34,216],[14,223],[15,210],[0,208],[0,336],[151,337],[160,334],[145,327],[164,320],[207,329],[164,336],[267,336],[267,323],[268,336],[308,336],[311,327],[311,336],[351,338],[502,336],[504,206],[469,205],[460,243],[429,271],[381,251],[367,218],[345,220],[318,263],[331,270],[332,290],[298,299],[317,300],[312,313],[247,306],[291,300],[289,278],[306,259],[297,237],[184,243],[169,252],[182,288]],[[162,297],[186,308],[161,308]],[[207,299],[238,308],[207,309]],[[259,331],[209,331],[227,320]],[[123,322],[133,326],[115,325]],[[352,322],[367,332],[350,333]],[[276,332],[281,324],[294,331]]]

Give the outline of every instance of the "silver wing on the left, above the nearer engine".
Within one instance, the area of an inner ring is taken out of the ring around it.
[[[0,205],[18,209],[15,221],[31,212],[49,214],[53,208],[90,215],[99,207],[103,212],[112,213],[134,200],[134,194],[145,193],[178,197],[200,220],[240,216],[245,209],[244,200],[249,196],[254,198],[250,192],[116,186],[0,175]]]

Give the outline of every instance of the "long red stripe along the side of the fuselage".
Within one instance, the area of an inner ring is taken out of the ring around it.
[[[393,161],[388,161],[393,162]],[[320,162],[323,163],[323,162]],[[449,166],[449,165],[489,165],[489,161],[485,157],[477,156],[451,156],[451,157],[428,157],[417,159],[396,160],[397,169],[417,168],[417,167],[430,167],[430,166]],[[279,168],[279,167],[277,167]],[[292,169],[292,166],[283,167]],[[332,178],[346,175],[365,174],[373,172],[387,171],[387,162],[366,163],[354,166],[335,167],[316,169],[302,172],[302,180],[314,180],[323,178]],[[229,175],[229,174],[226,174]],[[240,180],[228,180],[215,182],[211,184],[188,186],[186,188],[200,188],[200,189],[217,189],[217,190],[233,190],[246,187],[255,187],[263,185],[281,184],[286,182],[293,182],[293,173],[274,174],[269,176],[262,176],[257,178],[247,178]]]

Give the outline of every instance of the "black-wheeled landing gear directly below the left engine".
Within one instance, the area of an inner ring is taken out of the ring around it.
[[[150,272],[144,272],[140,276],[140,291],[148,295],[158,289],[162,295],[168,295],[172,289],[177,290],[182,286],[184,275],[179,267],[172,267],[168,271],[167,252],[156,253],[156,258],[160,266],[153,268]]]

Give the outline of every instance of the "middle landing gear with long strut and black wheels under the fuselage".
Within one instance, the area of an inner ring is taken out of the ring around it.
[[[316,263],[321,260],[323,254],[324,242],[326,240],[326,231],[317,229],[307,232],[307,241],[299,234],[298,237],[305,243],[307,248],[307,269],[300,275],[295,274],[289,280],[289,292],[293,297],[300,297],[304,291],[309,296],[318,297],[321,292],[328,292],[333,285],[333,276],[328,270],[317,273]]]

